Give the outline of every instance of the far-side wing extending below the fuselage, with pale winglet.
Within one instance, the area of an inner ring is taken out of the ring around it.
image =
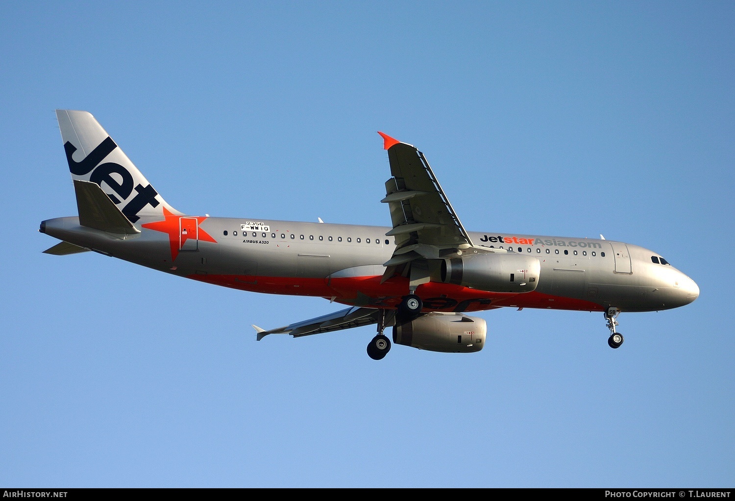
[[[351,329],[364,325],[370,325],[383,321],[387,325],[387,320],[395,315],[390,310],[379,310],[378,308],[361,308],[351,307],[338,312],[323,315],[311,320],[292,323],[278,329],[266,331],[259,326],[253,326],[257,332],[257,340],[262,340],[268,334],[291,334],[293,337],[309,336],[311,334],[321,334],[322,332],[339,331],[342,329]]]

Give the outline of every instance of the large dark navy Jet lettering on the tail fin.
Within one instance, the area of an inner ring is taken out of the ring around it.
[[[76,151],[76,146],[72,145],[71,142],[68,141],[64,143],[66,161],[69,163],[69,170],[71,170],[71,173],[76,176],[86,176],[91,172],[89,180],[93,183],[97,183],[100,188],[102,187],[102,183],[110,186],[112,191],[115,191],[120,198],[109,193],[107,196],[110,197],[110,200],[112,200],[115,205],[120,205],[124,200],[128,200],[128,197],[130,197],[133,192],[133,176],[130,174],[128,169],[120,164],[115,164],[114,162],[99,164],[107,158],[107,156],[110,155],[112,150],[115,150],[116,147],[118,147],[118,145],[115,145],[112,138],[107,136],[107,139],[101,142],[82,161],[75,161],[71,156]],[[118,175],[122,182],[113,178],[112,174]],[[140,219],[137,213],[139,213],[146,205],[151,205],[151,207],[157,207],[157,205],[159,205],[159,201],[156,200],[156,195],[158,193],[153,189],[153,186],[143,186],[138,184],[135,186],[135,191],[137,191],[135,197],[133,197],[133,199],[121,209],[126,218],[133,223]]]

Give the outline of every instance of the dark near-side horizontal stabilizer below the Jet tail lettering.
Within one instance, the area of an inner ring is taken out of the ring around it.
[[[140,233],[97,183],[74,180],[79,224],[108,233],[132,235]]]

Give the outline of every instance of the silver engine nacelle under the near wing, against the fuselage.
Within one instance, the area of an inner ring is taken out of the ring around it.
[[[539,285],[541,262],[522,254],[479,254],[442,261],[442,282],[487,292],[523,293]]]

